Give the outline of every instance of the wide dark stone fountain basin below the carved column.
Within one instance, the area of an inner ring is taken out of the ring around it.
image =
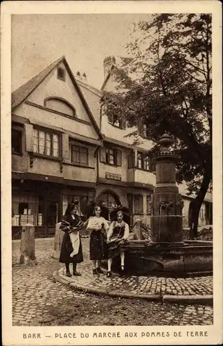
[[[133,275],[211,275],[213,272],[213,244],[203,241],[154,243],[132,240],[123,244],[125,269]],[[119,266],[114,259],[114,267]]]

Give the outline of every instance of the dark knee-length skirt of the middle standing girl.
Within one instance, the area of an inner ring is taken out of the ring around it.
[[[90,260],[107,259],[107,244],[104,233],[92,230],[90,236]]]

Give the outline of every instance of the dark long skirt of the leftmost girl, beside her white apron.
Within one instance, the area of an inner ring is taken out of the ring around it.
[[[64,233],[64,237],[62,240],[62,246],[60,251],[60,259],[61,263],[81,263],[83,262],[83,253],[82,253],[82,244],[80,239],[80,246],[77,255],[70,257],[73,252],[73,246],[71,243],[71,238],[69,233]]]

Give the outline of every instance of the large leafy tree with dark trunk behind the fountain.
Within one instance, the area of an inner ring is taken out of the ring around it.
[[[154,143],[165,131],[175,138],[177,181],[197,193],[195,237],[212,181],[211,15],[152,15],[136,24],[132,35],[131,58],[114,70],[118,86],[104,94],[105,112],[119,114],[128,127],[141,124]]]

